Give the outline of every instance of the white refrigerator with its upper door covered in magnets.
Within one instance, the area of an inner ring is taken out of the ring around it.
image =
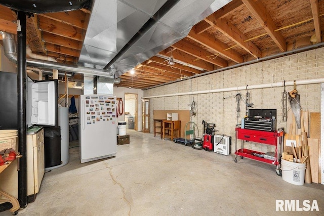
[[[116,155],[116,97],[80,95],[79,157],[81,163]]]

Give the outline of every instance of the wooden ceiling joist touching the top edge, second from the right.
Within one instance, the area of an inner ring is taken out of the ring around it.
[[[272,18],[270,17],[268,11],[265,9],[262,2],[261,1],[255,2],[253,0],[241,0],[241,1],[247,6],[247,8],[251,11],[251,13],[256,17],[256,19],[262,25],[264,30],[270,35],[270,37],[278,46],[278,48],[281,50],[281,52],[285,52],[287,50],[286,40],[279,31],[275,31],[277,27],[274,24]]]

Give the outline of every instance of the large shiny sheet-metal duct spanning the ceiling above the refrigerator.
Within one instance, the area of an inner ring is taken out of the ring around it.
[[[116,69],[115,77],[184,38],[231,0],[96,0],[78,65]]]

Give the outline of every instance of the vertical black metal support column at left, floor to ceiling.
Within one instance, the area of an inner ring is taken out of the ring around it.
[[[26,13],[17,12],[17,91],[18,91],[18,201],[20,207],[27,206],[27,72],[26,72]]]

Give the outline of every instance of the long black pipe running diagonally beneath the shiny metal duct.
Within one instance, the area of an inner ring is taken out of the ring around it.
[[[126,51],[128,51],[143,34],[148,31],[157,21],[166,15],[180,0],[168,0],[158,11],[147,20],[147,22],[136,32],[136,34],[128,41],[128,43],[115,55],[111,61],[103,68],[108,70],[109,67],[117,61]]]

